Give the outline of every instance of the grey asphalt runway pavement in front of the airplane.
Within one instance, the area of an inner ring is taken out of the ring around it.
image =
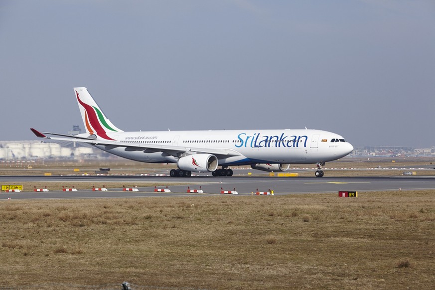
[[[109,188],[108,191],[92,191],[92,188],[75,192],[23,191],[0,194],[0,200],[11,199],[77,199],[77,198],[137,198],[137,197],[173,197],[207,196],[220,194],[223,190],[237,191],[239,195],[251,195],[259,191],[273,190],[275,195],[301,193],[328,193],[338,191],[385,191],[385,190],[424,190],[435,189],[435,177],[399,176],[399,177],[209,177],[189,178],[156,176],[0,176],[1,184],[19,184],[20,182],[64,182],[78,184],[92,182],[104,184],[110,181],[134,184],[135,182],[167,183],[170,193],[154,192],[154,186],[137,187],[139,191],[124,191],[122,188]],[[182,185],[170,185],[173,183]],[[49,184],[49,183],[48,183]],[[187,193],[190,189],[201,189],[204,193]],[[166,188],[160,186],[158,188]],[[29,189],[27,189],[29,190]]]

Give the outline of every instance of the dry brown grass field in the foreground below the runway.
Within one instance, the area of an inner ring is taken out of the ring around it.
[[[435,191],[0,202],[2,287],[433,289]]]

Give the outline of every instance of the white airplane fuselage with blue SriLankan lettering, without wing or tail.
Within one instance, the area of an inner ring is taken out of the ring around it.
[[[118,143],[128,145],[96,145],[124,158],[149,163],[176,163],[177,157],[155,149],[136,145],[183,146],[192,152],[201,149],[229,149],[236,156],[218,157],[219,165],[252,163],[309,164],[342,158],[353,147],[343,137],[321,130],[223,130],[223,131],[150,131],[108,134]],[[203,151],[203,150],[201,150]]]

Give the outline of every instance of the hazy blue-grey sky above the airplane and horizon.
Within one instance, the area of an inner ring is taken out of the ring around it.
[[[1,0],[0,140],[66,133],[87,87],[124,131],[320,129],[435,145],[433,0]]]

